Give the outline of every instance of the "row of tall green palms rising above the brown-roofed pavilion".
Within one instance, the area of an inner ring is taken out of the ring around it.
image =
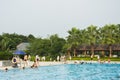
[[[67,48],[75,55],[78,45],[91,45],[91,52],[94,55],[93,47],[96,44],[110,45],[120,44],[120,25],[105,25],[104,27],[98,28],[97,26],[91,25],[86,29],[79,30],[73,27],[68,31],[67,44],[64,49]],[[73,55],[72,54],[72,55]]]

